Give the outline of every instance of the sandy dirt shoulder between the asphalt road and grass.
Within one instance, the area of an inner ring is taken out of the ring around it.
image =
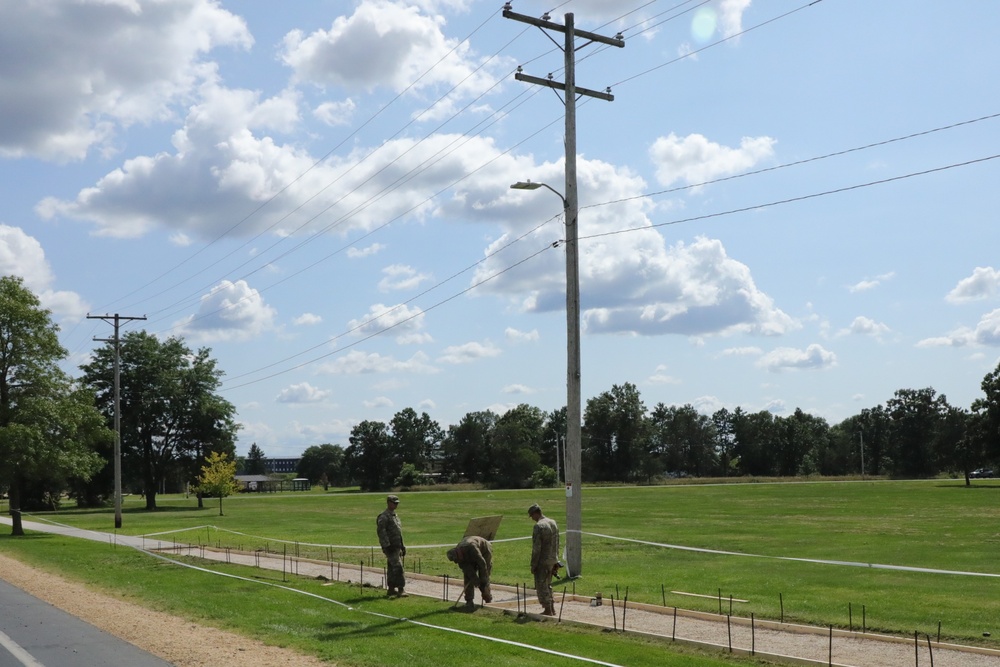
[[[0,577],[176,667],[329,667],[312,656],[207,628],[93,591],[0,556]]]

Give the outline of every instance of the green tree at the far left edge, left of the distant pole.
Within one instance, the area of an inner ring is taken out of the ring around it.
[[[60,494],[102,463],[95,449],[114,434],[89,392],[57,366],[66,357],[57,327],[20,278],[0,278],[0,484],[10,496],[12,534],[23,535],[23,490]]]

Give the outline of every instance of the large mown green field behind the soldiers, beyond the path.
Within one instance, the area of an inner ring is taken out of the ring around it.
[[[530,581],[527,538],[532,524],[526,516],[528,505],[539,502],[547,515],[565,527],[561,489],[421,491],[401,497],[398,511],[408,545],[407,568],[429,574],[456,575],[441,545],[457,542],[470,518],[501,514],[504,519],[494,547],[494,580],[508,584]],[[284,549],[300,556],[368,562],[376,543],[374,518],[384,507],[384,496],[349,491],[241,495],[224,501],[225,516],[218,515],[216,501],[206,501],[204,509],[198,509],[194,499],[183,497],[161,496],[158,502],[162,509],[147,513],[139,499],[128,498],[121,532],[184,531],[163,539],[243,549],[266,544],[272,551]],[[27,518],[110,531],[114,517],[110,511],[65,511]],[[584,489],[583,530],[583,576],[570,585],[578,594],[600,591],[605,597],[622,597],[627,591],[630,601],[665,602],[704,611],[718,611],[720,595],[723,611],[728,611],[732,596],[748,601],[734,604],[733,613],[739,615],[752,612],[757,618],[846,628],[851,622],[860,626],[863,614],[869,630],[904,635],[919,631],[933,636],[940,623],[944,640],[1000,646],[994,639],[1000,636],[1000,576],[957,574],[1000,574],[1000,481],[977,480],[969,488],[951,480],[588,487]],[[52,566],[60,550],[39,546],[49,540],[55,543],[61,538],[4,538],[0,539],[0,550]],[[92,549],[96,549],[95,558],[110,557],[107,548],[102,551],[99,545],[88,546],[88,553]],[[122,551],[115,550],[115,558],[120,558]],[[381,566],[380,554],[375,553],[375,563]],[[141,557],[134,557],[141,561]],[[148,567],[156,572],[151,579],[168,571]],[[95,577],[95,583],[101,583],[100,572],[107,569],[83,567],[81,572],[76,568],[77,576]],[[141,568],[138,572],[136,579],[144,579]],[[146,585],[144,582],[143,587]],[[175,613],[209,618],[207,610],[185,612],[184,605],[193,604],[190,601],[168,602],[170,591],[175,589],[185,590],[180,584],[165,584],[150,598],[157,605],[180,604]],[[213,590],[212,595],[223,592]],[[185,596],[181,592],[178,597]],[[413,604],[434,607],[429,602]],[[502,621],[479,618],[463,617],[462,622],[505,627]],[[232,619],[221,622],[235,623]],[[986,632],[991,637],[985,638]],[[599,639],[598,644],[602,641],[607,638]],[[572,642],[578,645],[579,638]],[[638,649],[638,653],[643,650]],[[391,659],[380,663],[376,655],[358,662],[344,655],[336,659],[341,664],[395,664]],[[678,659],[708,662],[665,663],[661,654],[657,664],[721,664],[714,657]],[[643,663],[629,660],[626,664]]]

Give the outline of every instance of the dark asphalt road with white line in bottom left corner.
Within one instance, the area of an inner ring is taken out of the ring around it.
[[[170,667],[0,579],[0,667]]]

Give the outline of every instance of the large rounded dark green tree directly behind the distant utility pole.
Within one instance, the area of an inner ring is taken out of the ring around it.
[[[125,334],[121,350],[121,448],[123,477],[137,480],[146,509],[171,474],[192,479],[203,456],[235,459],[236,409],[215,392],[222,371],[209,350],[192,352],[180,339],[160,341],[145,332]],[[82,366],[109,423],[114,417],[114,345],[99,348]],[[127,471],[127,472],[126,472]]]

